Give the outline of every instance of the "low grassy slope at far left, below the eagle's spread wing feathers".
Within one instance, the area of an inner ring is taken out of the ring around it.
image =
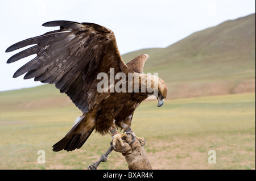
[[[37,110],[50,107],[73,106],[72,101],[54,85],[0,92],[0,111]]]

